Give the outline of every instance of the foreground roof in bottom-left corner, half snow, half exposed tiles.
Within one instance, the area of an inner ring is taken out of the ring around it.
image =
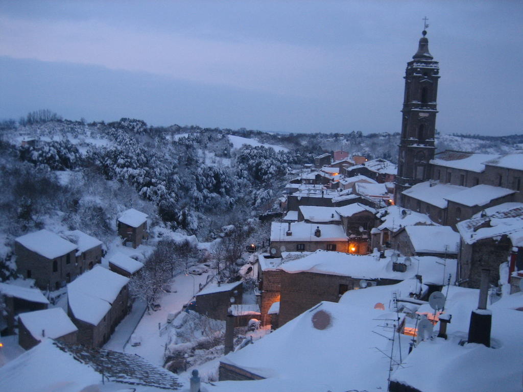
[[[160,392],[181,387],[175,374],[138,355],[51,339],[0,367],[0,379],[2,390],[24,392]]]

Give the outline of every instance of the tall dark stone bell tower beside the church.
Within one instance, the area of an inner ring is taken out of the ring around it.
[[[407,63],[402,109],[400,154],[396,176],[395,203],[401,193],[430,178],[429,160],[434,158],[436,98],[439,65],[428,51],[427,31],[419,39],[418,51]]]

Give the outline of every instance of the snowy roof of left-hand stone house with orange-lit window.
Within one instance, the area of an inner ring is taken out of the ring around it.
[[[20,236],[15,241],[47,259],[64,256],[76,249],[75,244],[46,229]]]

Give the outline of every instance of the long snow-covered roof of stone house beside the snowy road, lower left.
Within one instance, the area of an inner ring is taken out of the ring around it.
[[[67,297],[74,317],[98,325],[128,282],[129,278],[101,266],[78,276],[67,284]]]

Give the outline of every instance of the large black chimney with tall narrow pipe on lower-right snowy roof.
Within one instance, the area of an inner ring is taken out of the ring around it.
[[[480,298],[477,309],[470,315],[469,343],[481,343],[490,347],[492,312],[487,310],[488,275],[490,270],[481,270]]]

